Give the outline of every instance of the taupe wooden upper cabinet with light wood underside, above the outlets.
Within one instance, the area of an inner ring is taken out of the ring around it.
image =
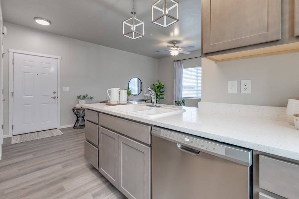
[[[298,51],[299,0],[202,0],[202,57],[218,62]]]

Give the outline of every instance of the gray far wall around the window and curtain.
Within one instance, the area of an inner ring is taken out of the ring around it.
[[[175,57],[169,56],[159,59],[158,65],[158,79],[162,84],[165,84],[164,99],[160,101],[161,104],[173,105],[173,84],[174,84],[174,64],[173,60],[187,59],[201,56],[201,51],[194,51],[190,54],[179,54]],[[188,59],[183,61],[185,66],[201,66],[201,58]],[[198,107],[199,99],[185,99],[185,105],[188,107]]]

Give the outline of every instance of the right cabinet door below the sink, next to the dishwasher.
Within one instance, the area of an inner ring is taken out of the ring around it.
[[[127,198],[150,198],[150,148],[119,135],[118,189]]]

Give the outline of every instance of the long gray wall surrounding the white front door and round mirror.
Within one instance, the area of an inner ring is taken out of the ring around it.
[[[61,56],[61,126],[75,122],[72,107],[77,95],[88,93],[97,103],[108,98],[107,89],[126,88],[132,77],[141,79],[143,87],[156,81],[158,59],[72,38],[42,32],[15,24],[4,23],[4,52],[7,49]],[[129,38],[124,38],[129,39]],[[132,64],[134,61],[136,64]],[[70,91],[62,91],[63,86]],[[4,58],[4,135],[8,134],[8,53]],[[135,99],[144,98],[142,95]]]

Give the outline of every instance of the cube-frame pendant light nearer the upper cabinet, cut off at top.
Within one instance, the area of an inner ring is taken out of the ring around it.
[[[179,21],[179,2],[158,0],[152,4],[152,23],[166,28]]]

